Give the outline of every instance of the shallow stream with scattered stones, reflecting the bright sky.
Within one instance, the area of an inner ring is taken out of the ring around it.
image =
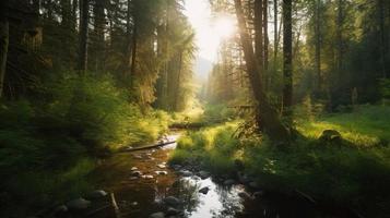
[[[176,140],[179,133],[168,137]],[[94,180],[101,189],[115,193],[122,218],[147,218],[154,213],[172,218],[348,217],[328,215],[304,199],[251,197],[253,190],[243,184],[222,185],[210,177],[202,180],[189,171],[180,173],[166,164],[175,147],[176,143],[117,154],[98,167]],[[202,187],[209,189],[206,194],[199,192]],[[166,204],[166,197],[178,199],[175,209],[168,209],[172,205]],[[101,213],[94,217],[111,215]]]

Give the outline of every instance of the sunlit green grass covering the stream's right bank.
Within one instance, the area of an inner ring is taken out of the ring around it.
[[[203,129],[179,140],[173,162],[200,162],[216,174],[234,174],[235,160],[263,189],[342,205],[366,217],[390,214],[390,109],[362,106],[339,113],[297,122],[303,134],[288,147],[275,147],[267,137],[236,138],[237,122]],[[342,146],[317,141],[323,130],[340,131]],[[346,146],[348,145],[348,146]]]

